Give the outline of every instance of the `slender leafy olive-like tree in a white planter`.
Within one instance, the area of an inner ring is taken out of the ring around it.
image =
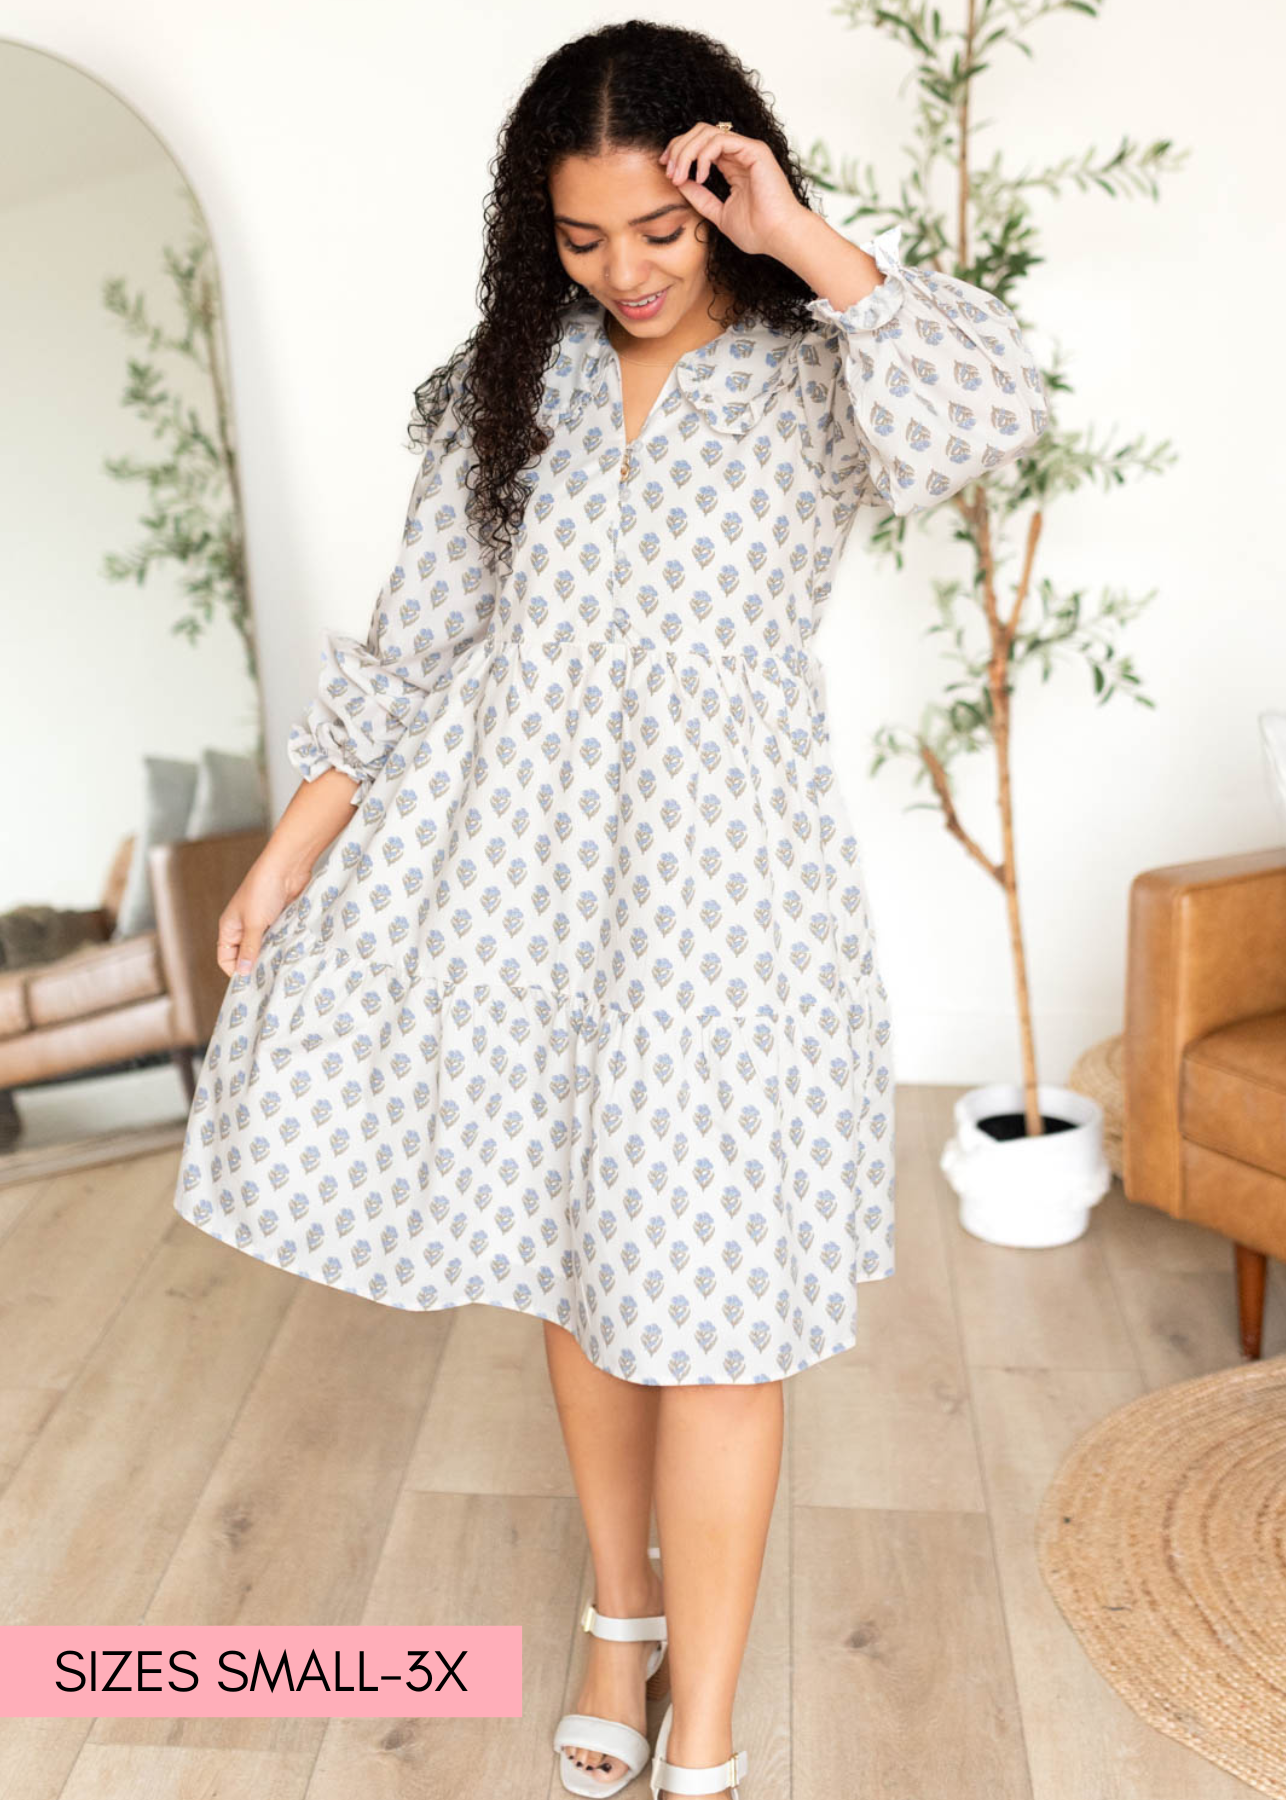
[[[1009,175],[1000,157],[987,167],[971,167],[973,85],[989,58],[1009,45],[1030,56],[1021,31],[1032,16],[1081,13],[1099,16],[1100,0],[1045,0],[1032,14],[1025,0],[962,0],[958,27],[944,23],[938,7],[915,0],[847,0],[838,7],[848,23],[874,25],[893,36],[915,56],[920,103],[915,124],[915,160],[902,182],[899,203],[890,207],[875,193],[874,173],[841,166],[834,171],[823,146],[809,153],[809,173],[827,191],[850,196],[852,211],[841,221],[883,216],[901,223],[904,261],[973,281],[996,293],[1016,313],[1014,286],[1043,261],[1036,256],[1028,207],[1032,189],[1059,193],[1063,184],[1111,194],[1151,193],[1156,178],[1178,167],[1167,139],[1135,146],[1122,139],[1106,157],[1093,149],[1054,167]],[[976,126],[973,128],[976,130]],[[929,198],[931,173],[946,162],[955,176],[953,218]],[[951,241],[955,225],[955,241]],[[1023,324],[1019,317],[1019,324]],[[1023,324],[1023,329],[1025,324]],[[1043,373],[1046,403],[1070,392],[1061,358]],[[955,1105],[955,1136],[942,1150],[942,1168],[960,1197],[960,1224],[992,1244],[1066,1244],[1088,1226],[1090,1208],[1111,1184],[1102,1154],[1102,1109],[1070,1087],[1037,1080],[1032,1004],[1023,949],[1014,850],[1014,801],[1010,767],[1014,754],[1010,697],[1019,671],[1039,670],[1041,680],[1057,659],[1081,659],[1091,673],[1099,704],[1128,693],[1151,706],[1138,691],[1138,675],[1117,641],[1153,594],[1131,599],[1104,587],[1097,601],[1082,590],[1063,592],[1048,574],[1037,574],[1037,549],[1046,506],[1059,493],[1072,493],[1086,481],[1106,490],[1133,473],[1158,473],[1173,463],[1169,441],[1147,450],[1142,439],[1109,448],[1097,446],[1091,432],[1061,430],[1050,405],[1050,425],[1032,450],[974,481],[949,502],[955,540],[967,547],[967,576],[935,581],[937,617],[929,634],[958,670],[944,684],[944,698],[924,707],[919,727],[884,725],[875,733],[872,774],[886,761],[906,758],[913,781],[928,783],[933,799],[917,803],[933,810],[946,830],[1003,895],[1012,950],[1021,1082],[974,1087]],[[933,529],[938,513],[913,515]],[[1023,526],[1025,515],[1025,526]],[[870,535],[875,551],[892,551],[902,567],[906,517],[883,515]],[[1021,527],[1021,562],[1016,578],[1001,581],[1003,545],[1010,527]],[[967,754],[991,751],[996,760],[996,810],[1000,855],[985,850],[956,805],[953,763]],[[915,805],[908,810],[915,810]]]

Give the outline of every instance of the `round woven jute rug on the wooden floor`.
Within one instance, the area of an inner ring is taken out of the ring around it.
[[[1099,1420],[1041,1499],[1036,1555],[1140,1717],[1286,1800],[1286,1355]]]

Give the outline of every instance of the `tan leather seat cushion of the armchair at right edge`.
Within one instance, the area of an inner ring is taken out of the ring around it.
[[[1286,1012],[1254,1013],[1187,1046],[1180,1132],[1286,1177]]]

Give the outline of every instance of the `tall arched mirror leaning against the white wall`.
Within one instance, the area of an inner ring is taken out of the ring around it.
[[[166,146],[0,43],[0,1181],[182,1141],[268,830],[214,252]]]

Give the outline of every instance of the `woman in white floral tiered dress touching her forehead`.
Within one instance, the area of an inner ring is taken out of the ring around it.
[[[893,1273],[812,635],[857,511],[1014,461],[1041,380],[998,299],[811,211],[697,32],[555,52],[486,232],[398,563],[367,641],[326,637],[304,781],[220,922],[175,1204],[353,1294],[544,1321],[594,1562],[564,1786],[623,1787],[670,1679],[654,1793],[737,1796],[782,1384]]]

